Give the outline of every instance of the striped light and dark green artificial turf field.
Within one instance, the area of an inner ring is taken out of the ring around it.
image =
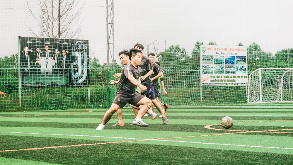
[[[290,107],[168,108],[148,127],[125,108],[125,126],[114,114],[104,130],[107,109],[0,113],[0,164],[293,164]]]

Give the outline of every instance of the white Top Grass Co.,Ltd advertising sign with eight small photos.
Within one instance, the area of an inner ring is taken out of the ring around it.
[[[200,45],[201,86],[248,85],[247,47]]]

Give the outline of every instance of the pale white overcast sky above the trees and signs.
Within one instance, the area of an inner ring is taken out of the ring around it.
[[[4,57],[18,52],[17,36],[35,37],[28,27],[38,25],[28,16],[24,0],[1,3],[0,57]],[[89,40],[91,57],[100,62],[107,61],[105,6],[106,0],[85,0],[83,29],[77,37]],[[114,0],[115,55],[137,42],[144,45],[146,55],[147,44],[155,40],[158,53],[165,50],[165,42],[167,48],[178,44],[190,54],[197,41],[213,41],[230,46],[255,42],[274,55],[293,47],[292,7],[291,0]],[[153,44],[149,52],[154,52]]]

